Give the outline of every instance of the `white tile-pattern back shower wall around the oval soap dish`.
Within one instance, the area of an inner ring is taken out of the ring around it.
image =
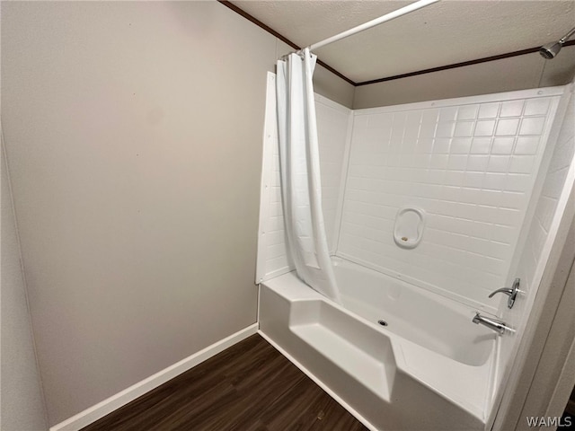
[[[552,89],[356,110],[337,254],[495,311],[559,96]],[[401,207],[427,214],[394,243]]]

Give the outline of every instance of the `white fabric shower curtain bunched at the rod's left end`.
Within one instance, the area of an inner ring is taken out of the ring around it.
[[[312,84],[316,58],[305,48],[278,61],[281,193],[288,250],[298,277],[322,295],[341,303],[323,224]]]

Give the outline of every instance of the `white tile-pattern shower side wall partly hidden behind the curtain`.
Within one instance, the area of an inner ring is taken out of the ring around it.
[[[320,149],[323,218],[329,250],[333,252],[336,245],[336,229],[339,228],[337,210],[341,190],[341,168],[348,130],[351,127],[352,111],[318,94],[315,95],[315,110]],[[269,133],[270,141],[264,148],[264,163],[270,161],[270,167],[267,171],[264,169],[264,189],[262,190],[262,199],[268,200],[268,206],[261,220],[261,228],[265,234],[260,235],[260,241],[265,243],[265,258],[260,260],[259,257],[258,259],[256,280],[258,282],[277,277],[293,269],[286,252],[283,207],[279,189],[277,131],[273,129],[269,130]],[[269,153],[265,154],[266,151]]]

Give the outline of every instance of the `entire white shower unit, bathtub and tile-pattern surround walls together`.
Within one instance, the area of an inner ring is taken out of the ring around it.
[[[316,96],[339,304],[298,280],[286,253],[273,79],[261,334],[371,429],[484,429],[518,337],[472,318],[504,311],[488,295],[514,277],[571,87],[355,111]],[[413,249],[394,242],[403,207],[426,216]]]

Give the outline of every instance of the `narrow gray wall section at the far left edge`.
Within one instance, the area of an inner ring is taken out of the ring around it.
[[[0,153],[0,171],[2,171],[0,429],[46,430],[48,429],[46,409],[34,354],[30,313],[22,277],[20,245],[5,166],[3,144]]]

